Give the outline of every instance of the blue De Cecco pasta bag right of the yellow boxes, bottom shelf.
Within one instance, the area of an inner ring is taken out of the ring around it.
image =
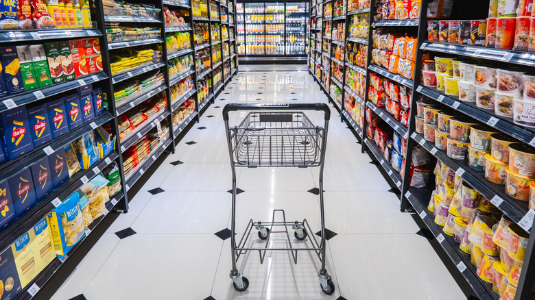
[[[85,236],[78,191],[48,214],[47,219],[56,255],[63,256],[69,253],[71,248]]]

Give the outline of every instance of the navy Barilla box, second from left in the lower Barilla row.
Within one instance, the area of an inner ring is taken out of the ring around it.
[[[15,213],[19,217],[37,203],[32,172],[29,171],[29,168],[25,168],[13,175],[9,182]]]

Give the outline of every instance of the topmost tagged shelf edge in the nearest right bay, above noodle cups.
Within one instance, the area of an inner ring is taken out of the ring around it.
[[[422,50],[451,53],[455,55],[468,56],[471,58],[483,58],[495,60],[497,62],[507,62],[521,64],[523,66],[535,66],[535,53],[512,51],[509,49],[494,49],[483,46],[468,46],[450,44],[447,42],[425,41],[420,47]]]

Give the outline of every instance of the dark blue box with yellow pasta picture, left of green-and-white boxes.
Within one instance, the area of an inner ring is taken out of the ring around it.
[[[2,61],[5,86],[8,88],[8,95],[16,95],[24,92],[21,62],[16,55],[16,47],[0,47],[0,60]]]

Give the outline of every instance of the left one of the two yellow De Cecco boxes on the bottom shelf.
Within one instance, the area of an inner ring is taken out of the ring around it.
[[[33,229],[30,229],[29,232],[32,232],[32,230]],[[23,236],[15,240],[13,245],[11,245],[16,273],[19,274],[22,288],[32,282],[40,272],[35,252],[32,249],[34,240],[30,238],[29,232],[23,234]]]

